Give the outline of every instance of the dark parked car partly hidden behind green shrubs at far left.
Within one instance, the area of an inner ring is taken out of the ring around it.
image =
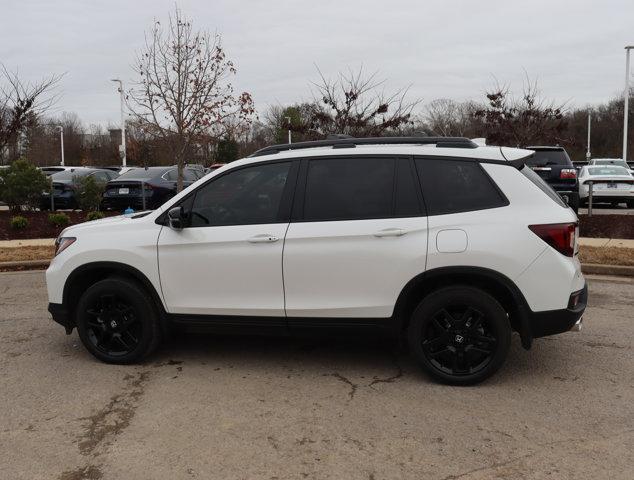
[[[117,173],[111,170],[102,170],[97,168],[73,167],[61,172],[49,175],[53,187],[53,204],[55,209],[77,209],[79,202],[76,196],[77,186],[80,179],[84,177],[94,177],[97,183],[106,184],[113,178],[117,177]],[[42,192],[40,197],[40,210],[49,210],[51,208],[51,192]]]

